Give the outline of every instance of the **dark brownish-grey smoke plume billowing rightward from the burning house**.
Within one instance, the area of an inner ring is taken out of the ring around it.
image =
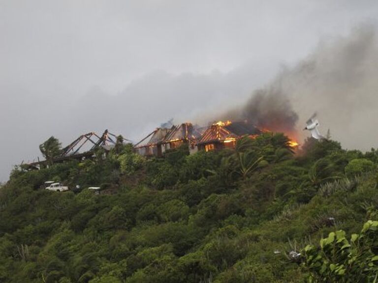
[[[323,39],[314,53],[285,67],[244,106],[226,113],[257,126],[292,133],[315,111],[320,131],[347,148],[378,146],[378,45],[376,29],[363,25],[345,37]]]

